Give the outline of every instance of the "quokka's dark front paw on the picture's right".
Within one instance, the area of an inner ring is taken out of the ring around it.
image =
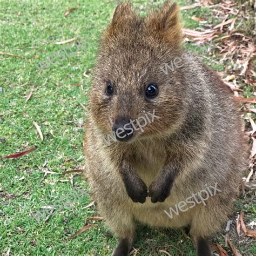
[[[154,180],[149,186],[149,197],[152,203],[163,202],[170,195],[171,187],[168,184],[161,184]]]

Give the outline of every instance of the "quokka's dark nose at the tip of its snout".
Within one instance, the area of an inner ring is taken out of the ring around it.
[[[113,133],[116,135],[117,140],[126,142],[133,136],[133,126],[128,119],[117,119],[112,127]]]

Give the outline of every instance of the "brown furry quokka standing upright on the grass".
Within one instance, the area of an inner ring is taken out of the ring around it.
[[[113,255],[129,254],[137,223],[187,226],[198,255],[211,255],[207,239],[238,193],[247,156],[240,115],[215,72],[184,55],[182,39],[171,2],[146,17],[118,5],[101,39],[84,151],[92,197],[119,239]],[[181,56],[179,69],[166,75],[159,68]],[[143,132],[127,129],[145,112],[159,118]],[[112,132],[122,136],[107,144]],[[173,218],[165,213],[216,183],[221,192],[205,204]]]

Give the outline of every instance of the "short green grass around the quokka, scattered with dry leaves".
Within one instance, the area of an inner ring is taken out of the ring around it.
[[[185,0],[179,2],[186,5]],[[163,1],[134,1],[137,7],[160,3]],[[114,1],[99,0],[1,1],[0,51],[20,57],[0,55],[0,155],[37,145],[36,151],[22,158],[0,161],[2,254],[10,249],[12,255],[110,255],[116,245],[116,238],[104,223],[70,239],[95,213],[92,208],[83,209],[90,203],[85,181],[75,176],[72,186],[66,181],[70,174],[62,175],[83,166],[83,105],[87,104],[91,85],[90,77],[83,73],[90,75],[100,33],[110,22],[115,5]],[[75,6],[78,9],[64,17],[64,11]],[[198,23],[190,16],[211,18],[207,8],[183,11],[185,26],[191,29],[197,28]],[[49,63],[48,58],[70,45],[55,42],[73,37],[77,37],[76,42],[86,39],[88,44],[42,71],[36,68],[39,62]],[[205,46],[186,46],[194,53],[207,55]],[[213,69],[224,70],[224,65],[214,60],[204,62]],[[26,102],[25,96],[30,92],[32,96]],[[248,89],[246,95],[250,93]],[[43,142],[33,121],[41,126]],[[45,176],[46,170],[52,173]],[[238,209],[253,212],[250,205],[250,209],[241,206],[242,201],[237,205]],[[51,209],[43,212],[45,206],[53,207],[52,214]],[[221,237],[218,239],[223,243]],[[190,239],[181,230],[141,226],[134,247],[140,247],[139,255],[159,255],[159,250],[172,255],[195,255]],[[255,245],[248,252],[255,255]]]

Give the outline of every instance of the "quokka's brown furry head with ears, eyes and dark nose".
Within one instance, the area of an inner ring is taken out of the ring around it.
[[[91,116],[98,129],[133,142],[177,126],[185,101],[184,71],[174,67],[166,74],[164,64],[181,56],[181,41],[176,3],[146,17],[130,3],[117,6],[102,37],[91,90]]]

